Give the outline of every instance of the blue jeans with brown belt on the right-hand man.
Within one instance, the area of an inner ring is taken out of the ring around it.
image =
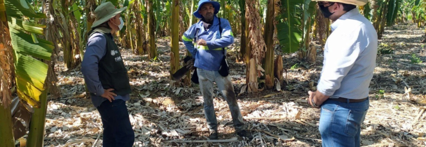
[[[323,147],[360,147],[361,123],[369,104],[368,98],[359,103],[324,102],[319,127]]]

